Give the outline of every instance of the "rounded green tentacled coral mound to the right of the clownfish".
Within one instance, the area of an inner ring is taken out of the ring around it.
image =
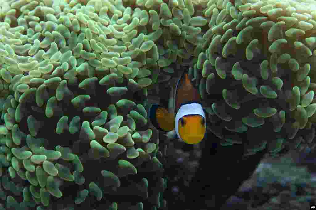
[[[208,2],[202,46],[209,47],[191,73],[222,145],[245,141],[238,133],[246,132],[249,155],[314,147],[315,5]]]

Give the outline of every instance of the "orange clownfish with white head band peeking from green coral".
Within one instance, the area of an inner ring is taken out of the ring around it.
[[[169,111],[160,104],[150,107],[151,123],[158,130],[172,133],[173,137],[176,134],[187,144],[201,142],[206,131],[205,113],[200,104],[201,96],[186,72],[182,73],[175,87],[172,87],[171,96],[173,101]]]

